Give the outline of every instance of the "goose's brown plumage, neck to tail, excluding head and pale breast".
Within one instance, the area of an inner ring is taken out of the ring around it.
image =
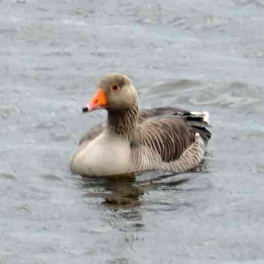
[[[138,116],[136,113],[135,109],[130,109],[122,115],[112,113],[110,118],[108,114],[107,122],[116,133],[130,140],[130,147],[134,152],[131,167],[137,167],[138,170],[152,167],[183,172],[201,162],[211,137],[208,130],[210,126],[202,116],[193,115],[178,107],[143,110]],[[81,139],[80,144],[96,138],[107,125],[99,124],[92,128]],[[131,127],[133,136],[130,135]],[[199,142],[195,142],[198,138],[195,137],[196,133],[201,136]],[[144,162],[148,166],[143,165]]]

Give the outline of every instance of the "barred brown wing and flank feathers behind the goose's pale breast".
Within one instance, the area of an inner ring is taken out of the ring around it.
[[[150,168],[183,172],[203,160],[211,136],[207,130],[209,124],[200,117],[188,114],[190,112],[177,108],[176,113],[175,110],[169,108],[170,115],[151,115],[138,125],[131,142],[131,146],[135,147],[132,148],[135,152],[133,160],[136,160],[138,170]],[[155,111],[159,113],[159,108]],[[139,156],[151,159],[144,163],[137,162]],[[146,163],[148,166],[144,165]]]

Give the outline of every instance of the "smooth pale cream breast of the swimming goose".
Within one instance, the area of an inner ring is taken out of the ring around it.
[[[128,172],[129,142],[102,133],[91,142],[83,143],[71,158],[73,172],[83,175],[115,175]]]

